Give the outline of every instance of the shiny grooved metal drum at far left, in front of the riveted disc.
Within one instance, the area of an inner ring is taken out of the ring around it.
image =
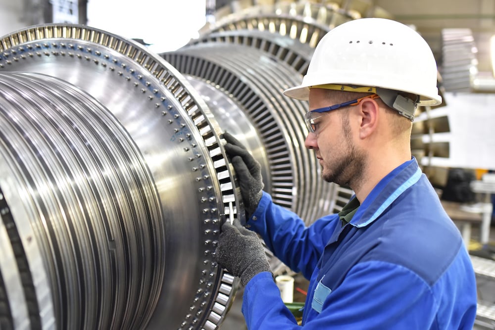
[[[21,239],[42,251],[57,324],[146,324],[164,274],[164,221],[141,153],[108,111],[71,85],[2,73],[0,91],[1,187]],[[30,191],[37,193],[27,199]],[[37,216],[18,217],[20,208]]]

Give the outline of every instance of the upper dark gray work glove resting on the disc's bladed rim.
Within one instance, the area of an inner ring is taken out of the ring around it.
[[[227,141],[224,146],[225,151],[230,156],[232,166],[234,166],[237,174],[247,218],[250,218],[256,211],[263,193],[261,166],[247,151],[246,147],[230,133],[225,132],[223,138]]]

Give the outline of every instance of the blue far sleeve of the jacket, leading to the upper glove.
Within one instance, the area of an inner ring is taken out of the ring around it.
[[[306,228],[297,214],[274,204],[270,195],[263,191],[247,227],[258,233],[284,264],[309,279],[338,223],[338,216],[331,215]]]

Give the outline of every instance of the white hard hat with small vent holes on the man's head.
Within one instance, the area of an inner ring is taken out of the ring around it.
[[[419,105],[438,105],[437,63],[413,29],[384,18],[348,21],[318,43],[300,86],[284,94],[301,100],[309,88],[339,84],[370,86],[419,95]]]

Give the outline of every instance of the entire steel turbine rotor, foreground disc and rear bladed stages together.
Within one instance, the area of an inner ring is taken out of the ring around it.
[[[308,223],[340,210],[352,191],[322,182],[307,104],[282,91],[354,18],[255,6],[162,54],[83,25],[2,37],[0,327],[219,328],[238,281],[213,252],[223,221],[245,221],[221,134],[276,203]]]

